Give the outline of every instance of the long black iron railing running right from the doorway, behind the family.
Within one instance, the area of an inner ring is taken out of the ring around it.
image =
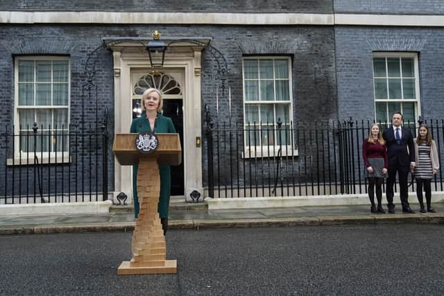
[[[444,121],[424,122],[443,163]],[[244,125],[213,123],[207,116],[204,175],[208,195],[238,198],[366,193],[362,143],[371,124],[349,120]],[[416,134],[416,123],[404,126]],[[440,168],[434,176],[434,191],[443,191],[442,173]]]

